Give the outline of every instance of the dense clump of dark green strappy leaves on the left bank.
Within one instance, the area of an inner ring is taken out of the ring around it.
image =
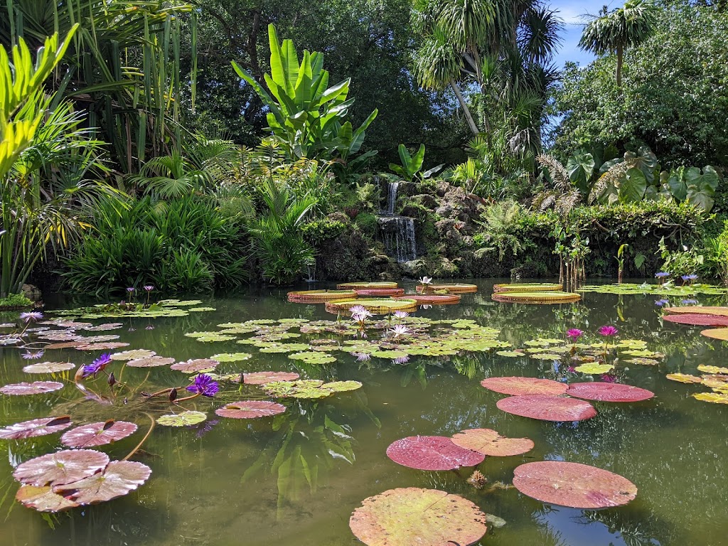
[[[240,222],[221,215],[206,199],[144,197],[121,210],[100,202],[92,226],[64,261],[62,274],[76,291],[144,284],[200,291],[237,285],[247,276]]]

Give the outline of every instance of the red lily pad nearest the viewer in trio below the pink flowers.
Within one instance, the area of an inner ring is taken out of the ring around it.
[[[511,396],[498,400],[496,406],[508,414],[542,421],[583,421],[596,416],[594,406],[585,400],[559,396]]]

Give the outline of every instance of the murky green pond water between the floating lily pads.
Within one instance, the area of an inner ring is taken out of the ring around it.
[[[473,282],[473,281],[467,281]],[[360,542],[349,531],[349,515],[363,499],[390,488],[438,488],[475,502],[485,513],[503,518],[479,545],[728,545],[728,406],[700,402],[690,395],[708,391],[700,385],[665,379],[666,373],[700,375],[697,365],[728,365],[728,349],[700,336],[700,327],[665,323],[654,296],[587,293],[577,304],[496,304],[491,287],[503,280],[480,280],[480,292],[465,294],[459,305],[432,306],[416,316],[475,320],[498,328],[498,339],[514,347],[542,337],[563,338],[581,328],[597,341],[604,324],[620,329],[620,339],[642,339],[665,355],[657,366],[619,363],[620,381],[650,389],[641,403],[593,403],[598,416],[580,423],[539,422],[496,408],[503,395],[480,387],[488,376],[555,378],[551,360],[466,352],[448,357],[412,357],[409,363],[372,359],[357,363],[334,352],[336,363],[303,364],[283,354],[259,353],[235,341],[203,343],[184,336],[218,331],[220,323],[251,319],[332,320],[323,304],[290,304],[286,290],[254,289],[203,299],[213,312],[186,317],[91,320],[123,322],[110,332],[126,349],[151,349],[177,360],[223,352],[251,352],[250,360],[223,363],[218,371],[298,371],[309,379],[356,380],[363,387],[317,401],[284,400],[285,414],[264,419],[222,419],[214,414],[223,401],[266,399],[255,387],[229,387],[220,398],[191,400],[186,408],[207,412],[195,427],[157,426],[133,457],[148,464],[151,478],[121,499],[42,515],[14,500],[13,467],[60,446],[59,435],[0,440],[0,545],[245,545],[340,546]],[[304,287],[302,287],[304,288]],[[315,288],[331,288],[317,285]],[[405,283],[408,291],[414,283]],[[682,298],[671,298],[680,304]],[[697,296],[701,304],[726,304],[721,296]],[[53,306],[72,306],[58,301]],[[51,315],[49,315],[51,316]],[[0,322],[7,322],[7,315]],[[153,330],[146,327],[153,325]],[[293,330],[296,331],[296,330]],[[241,334],[238,339],[252,334]],[[376,335],[376,334],[372,334]],[[317,334],[285,341],[325,337]],[[0,384],[53,379],[28,376],[28,360],[17,349],[0,349]],[[99,352],[48,351],[41,361],[90,363]],[[118,377],[122,363],[108,370]],[[561,368],[563,371],[563,368]],[[83,400],[72,373],[57,374],[68,384],[47,395],[1,396],[0,424],[70,413],[74,424],[111,417],[136,422],[129,438],[99,448],[121,459],[149,429],[149,418],[169,413],[168,404],[139,402],[119,395],[113,405]],[[169,368],[124,368],[122,381],[152,391],[183,383]],[[570,381],[579,381],[571,374]],[[588,378],[590,376],[582,376]],[[599,376],[595,376],[598,379]],[[91,384],[106,395],[103,379]],[[512,457],[488,457],[478,467],[491,482],[510,483],[524,462],[544,459],[580,462],[625,476],[638,487],[633,502],[607,510],[574,510],[545,505],[515,489],[478,491],[466,478],[470,470],[422,472],[395,464],[385,451],[393,441],[412,435],[452,435],[467,428],[492,428],[514,438],[528,437],[535,448]],[[301,461],[305,460],[305,464]],[[310,483],[309,483],[310,482]]]

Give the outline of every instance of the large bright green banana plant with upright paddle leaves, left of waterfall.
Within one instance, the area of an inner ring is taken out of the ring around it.
[[[293,159],[331,159],[355,154],[377,111],[353,130],[351,123],[345,121],[354,103],[353,98],[348,98],[351,80],[345,79],[329,87],[329,74],[323,69],[323,53],[304,50],[299,62],[293,40],[279,42],[274,25],[268,25],[268,39],[271,73],[264,74],[264,79],[269,91],[235,61],[232,66],[269,108],[266,120],[274,139]],[[351,130],[348,139],[341,134],[349,130],[344,129],[347,123]],[[347,141],[353,149],[346,147]]]

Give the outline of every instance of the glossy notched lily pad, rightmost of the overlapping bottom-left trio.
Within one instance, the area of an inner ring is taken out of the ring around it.
[[[98,474],[54,488],[79,505],[95,505],[134,491],[146,482],[151,468],[134,461],[112,461]]]

